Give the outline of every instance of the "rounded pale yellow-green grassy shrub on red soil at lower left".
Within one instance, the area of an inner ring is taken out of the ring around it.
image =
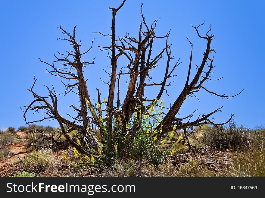
[[[26,171],[32,171],[42,174],[46,168],[53,165],[54,158],[50,149],[38,149],[27,153],[23,160],[23,168]]]

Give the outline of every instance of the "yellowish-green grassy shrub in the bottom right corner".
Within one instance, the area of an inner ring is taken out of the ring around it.
[[[265,177],[265,150],[238,153],[228,176]]]

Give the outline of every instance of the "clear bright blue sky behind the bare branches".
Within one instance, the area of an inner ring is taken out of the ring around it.
[[[43,84],[50,86],[50,83],[53,83],[57,92],[63,91],[60,79],[45,73],[47,66],[38,60],[41,58],[51,63],[57,51],[64,52],[70,48],[68,43],[57,40],[62,36],[57,28],[60,25],[69,32],[77,25],[76,37],[82,40],[82,51],[85,51],[95,38],[94,48],[83,57],[83,61],[91,61],[96,57],[95,64],[86,68],[85,76],[90,78],[88,87],[91,98],[97,100],[97,87],[101,90],[102,98],[107,98],[108,87],[99,78],[107,80],[103,69],[110,65],[110,60],[106,52],[101,52],[97,46],[108,46],[111,40],[92,32],[111,33],[111,10],[108,10],[108,7],[117,8],[121,2],[122,0],[1,1],[0,128],[17,128],[25,124],[19,106],[28,105],[33,100],[27,91],[32,86],[33,75],[38,79],[34,89],[38,94],[46,96]],[[185,36],[188,36],[194,46],[192,75],[196,71],[195,64],[201,63],[201,53],[205,50],[206,42],[198,38],[190,24],[197,26],[205,21],[201,34],[206,32],[209,24],[215,34],[212,46],[216,54],[211,56],[214,55],[216,68],[212,78],[224,77],[220,81],[206,83],[205,86],[209,90],[227,95],[233,95],[242,89],[245,91],[227,101],[201,90],[197,94],[201,102],[196,98],[188,98],[181,108],[181,117],[191,114],[195,109],[203,114],[224,105],[223,112],[214,115],[216,121],[225,121],[231,113],[235,113],[237,124],[250,128],[264,126],[264,2],[128,0],[117,13],[117,36],[129,32],[130,36],[137,37],[141,3],[149,24],[161,17],[156,35],[165,35],[171,29],[169,42],[173,43],[172,54],[182,61],[175,71],[178,75],[175,82],[168,88],[170,97],[165,94],[163,96],[165,105],[169,106],[174,102],[185,83],[190,52],[190,45]],[[164,47],[164,40],[157,41],[155,47],[157,50]],[[152,72],[156,82],[163,79],[164,63],[161,61]],[[126,65],[122,61],[118,64],[118,67]],[[121,90],[126,90],[126,83],[122,84]],[[146,93],[152,99],[152,96],[157,95],[157,91],[147,90]],[[124,93],[121,95],[124,96]],[[77,98],[73,95],[59,98],[61,115],[67,117],[66,113],[71,113],[67,106],[76,104],[76,101]],[[28,119],[33,120],[38,116],[29,114]],[[55,121],[40,124],[58,126]]]

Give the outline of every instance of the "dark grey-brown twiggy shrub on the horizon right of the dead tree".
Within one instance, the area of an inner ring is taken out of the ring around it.
[[[225,151],[227,149],[244,150],[251,138],[250,130],[239,126],[234,121],[229,122],[229,126],[220,126],[218,130],[215,127],[208,127],[204,130],[204,143],[214,149]]]

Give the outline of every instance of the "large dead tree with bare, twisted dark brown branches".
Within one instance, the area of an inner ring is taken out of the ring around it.
[[[63,118],[57,109],[58,94],[55,92],[54,87],[52,87],[52,89],[46,87],[49,93],[48,97],[39,96],[33,92],[33,87],[36,83],[36,79],[34,77],[33,86],[29,91],[36,99],[31,102],[30,105],[25,106],[26,109],[24,110],[24,118],[26,123],[30,124],[45,119],[56,119],[61,127],[61,133],[72,146],[76,147],[76,149],[86,155],[93,155],[95,157],[99,157],[98,149],[106,150],[109,146],[114,145],[113,137],[116,139],[118,138],[120,152],[126,153],[132,145],[133,137],[141,127],[143,117],[148,116],[156,119],[155,116],[157,115],[150,113],[150,109],[154,106],[167,109],[167,113],[163,115],[163,118],[160,121],[158,121],[156,127],[156,130],[162,129],[160,130],[161,132],[157,134],[158,139],[164,136],[164,134],[172,131],[174,127],[174,130],[184,131],[185,136],[183,137],[183,140],[186,140],[189,143],[188,137],[192,134],[192,130],[189,134],[187,134],[187,130],[190,130],[193,126],[200,127],[203,124],[212,124],[218,127],[219,125],[228,123],[232,119],[233,114],[228,121],[223,123],[215,123],[214,120],[210,120],[213,114],[221,111],[221,108],[217,108],[213,112],[207,114],[199,115],[198,118],[193,121],[191,121],[191,119],[194,112],[185,118],[178,118],[176,116],[185,99],[189,96],[195,96],[195,93],[201,89],[209,92],[210,94],[224,98],[235,97],[243,91],[242,90],[234,96],[226,96],[212,92],[204,86],[204,83],[207,82],[207,80],[214,80],[210,78],[210,74],[212,74],[212,69],[214,68],[214,57],[210,57],[210,53],[215,52],[211,47],[211,41],[214,39],[214,35],[210,34],[211,27],[205,36],[201,36],[198,28],[203,24],[198,27],[192,26],[198,34],[198,37],[207,41],[206,49],[202,56],[202,62],[200,66],[197,66],[197,72],[195,76],[192,77],[193,44],[187,38],[191,45],[191,52],[186,83],[171,108],[166,108],[164,105],[162,106],[162,104],[157,104],[157,102],[161,99],[164,92],[167,94],[166,86],[170,86],[173,82],[169,82],[169,80],[170,78],[176,76],[176,74],[174,74],[174,70],[181,63],[179,60],[173,64],[171,63],[174,56],[171,54],[172,51],[170,47],[172,44],[168,43],[170,31],[164,36],[157,36],[155,30],[159,19],[154,20],[152,24],[148,25],[145,21],[145,17],[143,16],[143,8],[141,6],[142,21],[139,24],[139,34],[137,38],[131,37],[129,33],[126,33],[125,36],[117,37],[115,35],[115,18],[117,12],[123,7],[125,2],[126,0],[123,0],[122,4],[117,9],[109,8],[112,11],[111,34],[106,35],[101,32],[97,32],[102,36],[111,38],[110,46],[98,46],[102,51],[111,52],[108,55],[108,58],[111,59],[111,72],[108,73],[106,71],[110,80],[108,82],[104,82],[109,86],[108,100],[104,99],[106,108],[103,109],[103,107],[101,107],[101,94],[99,89],[97,89],[98,102],[96,104],[91,102],[86,84],[87,80],[83,75],[83,68],[85,68],[86,65],[94,64],[94,59],[91,62],[81,61],[82,55],[88,53],[90,49],[92,49],[93,41],[88,50],[80,52],[80,46],[82,43],[81,41],[78,43],[75,39],[76,27],[74,27],[72,35],[65,31],[62,27],[59,27],[66,37],[58,39],[69,42],[73,49],[66,51],[64,54],[59,53],[63,56],[63,58],[57,58],[57,56],[55,56],[56,60],[51,64],[42,60],[40,61],[51,68],[51,70],[47,70],[48,73],[68,81],[68,83],[65,83],[61,80],[61,83],[63,83],[66,88],[64,94],[72,92],[79,95],[80,107],[70,105],[70,107],[73,108],[73,111],[78,112],[78,115],[76,117],[69,115],[72,118],[72,121]],[[153,54],[152,49],[154,40],[156,39],[165,39],[165,46],[158,54]],[[126,67],[121,68],[120,71],[117,72],[117,60],[121,56],[126,57],[128,63]],[[150,79],[150,71],[156,68],[159,61],[164,57],[166,57],[167,60],[167,63],[164,66],[164,78],[160,83],[148,83],[148,80]],[[61,63],[61,68],[55,66],[57,63]],[[121,103],[120,78],[123,76],[127,76],[129,83],[126,96],[123,103]],[[117,90],[115,91],[116,86]],[[148,99],[145,96],[145,88],[148,86],[160,86],[157,96],[153,99]],[[117,97],[115,97],[115,93],[117,94]],[[117,99],[117,106],[114,106],[115,98]],[[145,102],[148,104],[145,104]],[[42,110],[43,119],[28,122],[26,119],[28,110],[33,110],[35,112]],[[89,112],[91,116],[89,115]],[[138,113],[139,115],[137,122],[135,119],[132,119],[133,113]],[[159,115],[162,116],[162,112]],[[120,124],[115,125],[113,119],[115,119],[115,121],[120,121]],[[65,130],[63,125],[69,126],[68,130]],[[92,127],[93,125],[95,127]],[[82,137],[81,146],[69,137],[68,134],[72,130],[78,130],[80,132],[79,137]],[[97,133],[98,130],[100,131],[100,134]],[[121,131],[122,135],[120,137],[117,131]],[[184,144],[184,141],[179,141],[179,143]],[[190,144],[189,146],[190,148],[192,147]]]

